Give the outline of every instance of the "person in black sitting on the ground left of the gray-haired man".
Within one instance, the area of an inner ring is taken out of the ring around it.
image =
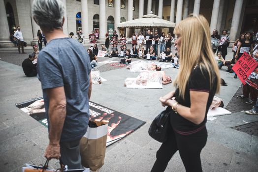
[[[29,55],[29,58],[26,58],[22,62],[23,72],[27,77],[37,76],[37,67],[32,61],[35,59],[36,55],[34,53]]]

